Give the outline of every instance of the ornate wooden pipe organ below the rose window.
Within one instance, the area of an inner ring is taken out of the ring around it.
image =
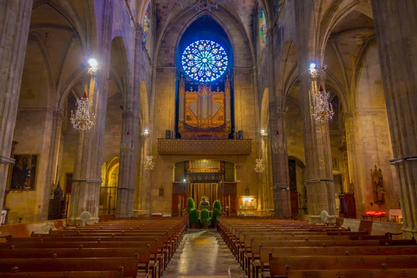
[[[183,139],[227,139],[231,132],[231,88],[227,75],[224,91],[213,91],[210,84],[202,83],[194,90],[186,90],[181,76],[179,84],[178,129]]]

